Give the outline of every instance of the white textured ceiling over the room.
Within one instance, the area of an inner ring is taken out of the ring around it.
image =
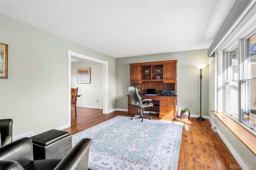
[[[18,0],[0,13],[112,57],[206,49],[235,0]]]

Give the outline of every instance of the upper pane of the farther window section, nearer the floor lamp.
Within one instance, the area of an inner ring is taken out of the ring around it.
[[[228,81],[238,80],[238,48],[228,53]]]

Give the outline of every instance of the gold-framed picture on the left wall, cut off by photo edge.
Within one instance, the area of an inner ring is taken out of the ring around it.
[[[0,43],[0,78],[7,79],[8,72],[8,45]]]

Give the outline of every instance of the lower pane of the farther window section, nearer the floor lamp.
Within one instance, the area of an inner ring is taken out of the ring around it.
[[[226,113],[238,119],[238,82],[226,85]]]

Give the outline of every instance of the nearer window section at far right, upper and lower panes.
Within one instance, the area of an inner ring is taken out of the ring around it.
[[[256,33],[245,40],[244,74],[242,89],[242,122],[256,127]]]

